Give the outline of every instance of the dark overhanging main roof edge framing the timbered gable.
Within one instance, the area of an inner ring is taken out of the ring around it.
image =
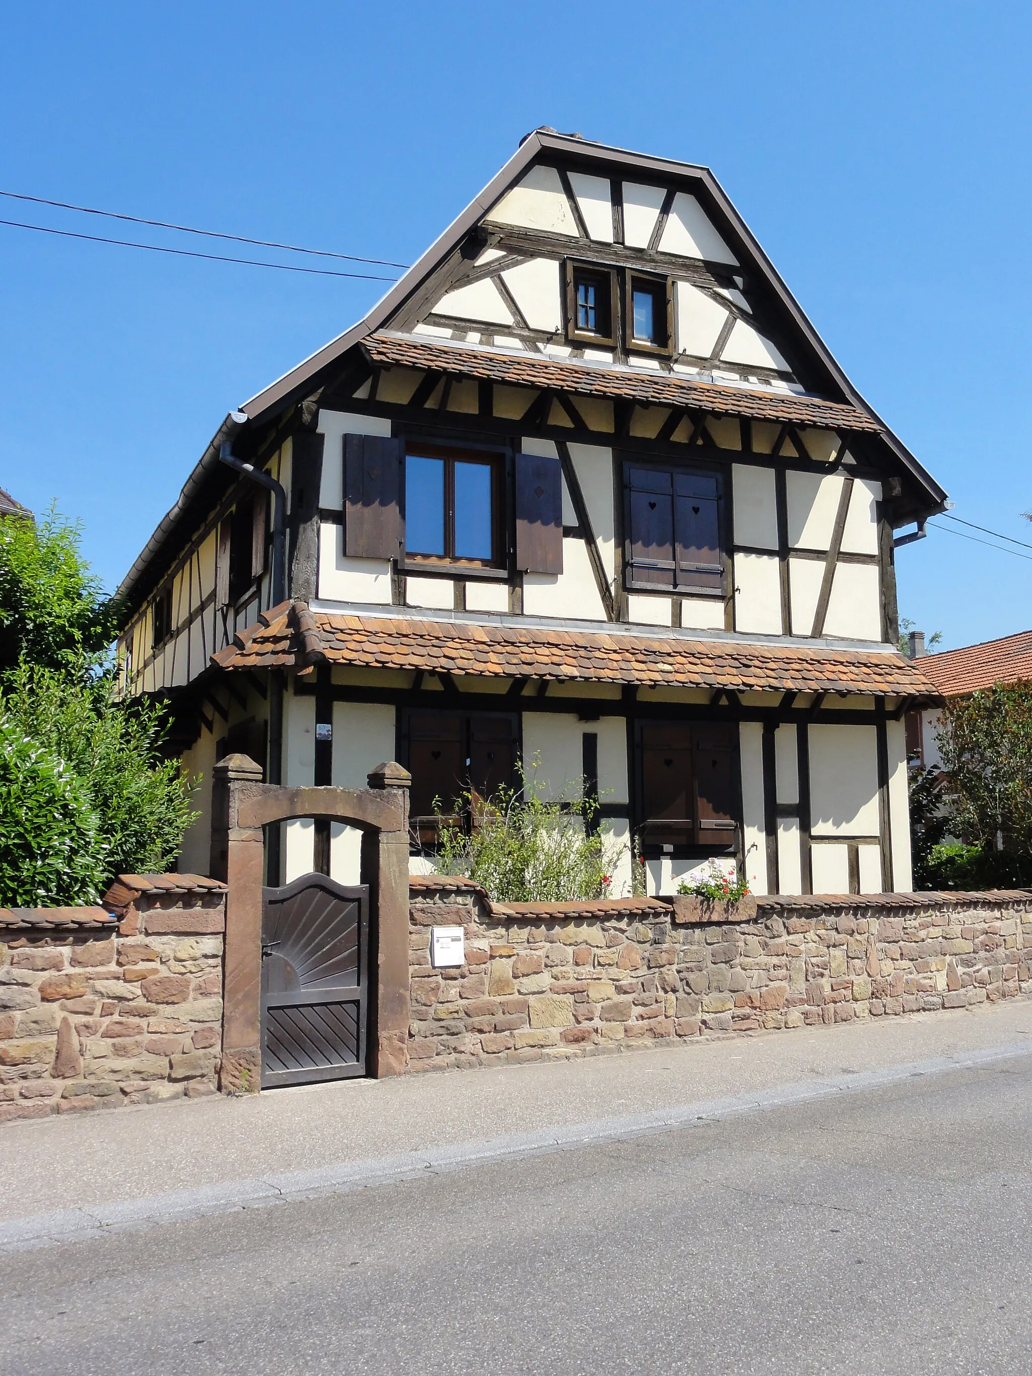
[[[344,356],[351,350],[363,341],[369,341],[370,336],[376,336],[377,332],[389,330],[392,321],[399,314],[410,311],[413,303],[420,299],[420,292],[428,279],[433,274],[440,272],[453,255],[458,253],[461,256],[471,231],[475,231],[480,222],[488,219],[491,209],[498,206],[515,183],[535,162],[542,160],[545,162],[561,161],[564,165],[575,165],[582,172],[593,176],[638,176],[655,179],[670,187],[684,190],[696,198],[711,219],[717,234],[733,252],[735,260],[740,264],[747,264],[749,271],[755,274],[757,279],[764,285],[772,308],[793,336],[794,347],[798,350],[799,359],[805,365],[808,374],[806,388],[809,395],[795,395],[795,403],[801,409],[793,414],[791,420],[798,424],[826,424],[831,428],[864,429],[877,433],[878,443],[885,446],[888,455],[892,457],[894,464],[900,465],[901,471],[910,475],[908,491],[896,504],[896,524],[905,524],[910,520],[916,520],[921,516],[927,516],[943,509],[943,502],[947,497],[944,488],[938,486],[901,440],[888,429],[872,407],[856,391],[709,168],[691,162],[678,162],[671,158],[629,153],[625,149],[592,143],[586,139],[555,133],[549,129],[537,129],[534,133],[527,135],[497,176],[469,202],[465,211],[427,249],[418,261],[391,286],[362,321],[352,325],[351,329],[318,350],[297,367],[285,373],[270,387],[250,398],[239,411],[226,417],[184,483],[178,501],[162,517],[147,545],[122,579],[117,596],[127,614],[142,604],[147,593],[172,563],[175,553],[182,548],[182,542],[193,533],[212,506],[216,505],[231,483],[237,480],[237,476],[231,471],[219,464],[222,440],[231,439],[239,433],[238,457],[249,458],[249,446],[257,446],[260,436],[266,433],[261,427],[277,421],[294,403],[315,396],[322,387],[340,373],[344,366]],[[377,347],[384,348],[385,344],[378,343]],[[476,359],[480,367],[515,366],[512,359],[497,348],[493,348],[490,354],[486,348],[466,348],[464,355]],[[490,365],[484,362],[486,356],[493,361]],[[530,376],[526,377],[530,385],[541,385],[539,380],[545,377],[544,370],[556,366],[555,361],[545,359],[541,355],[530,355],[526,361],[520,359],[520,363],[524,362],[541,367],[541,372],[535,373],[533,378]],[[593,376],[596,369],[585,369],[583,372]],[[603,370],[599,369],[597,372]],[[659,385],[659,378],[643,380],[641,373],[632,378],[630,369],[614,369],[611,372],[615,377],[621,378],[619,383],[611,385],[623,389],[605,395],[637,399],[640,394],[634,388],[638,385]],[[581,377],[579,370],[578,377]],[[670,378],[665,378],[663,381],[671,387],[677,385]],[[572,384],[563,383],[556,385],[567,387]],[[691,387],[692,384],[685,381],[684,385]],[[788,399],[777,391],[764,395],[749,387],[732,389],[711,384],[696,384],[695,392],[698,399],[692,398],[694,405],[702,406],[711,402],[714,410],[724,409],[724,394],[733,395],[736,398],[736,414],[742,416],[761,414],[754,410],[758,405],[766,405],[768,407],[788,405]],[[764,395],[762,403],[760,400],[761,395]],[[681,405],[688,400],[688,392],[678,394],[678,396]],[[813,410],[806,410],[806,403],[810,407],[823,406],[823,414],[826,417],[834,416],[834,420],[824,418],[819,421]],[[764,411],[762,414],[768,413]]]

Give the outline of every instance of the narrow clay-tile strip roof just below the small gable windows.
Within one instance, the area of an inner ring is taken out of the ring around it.
[[[538,387],[583,396],[612,396],[662,406],[687,406],[727,416],[787,421],[795,425],[827,425],[843,431],[882,433],[879,420],[854,406],[826,402],[819,396],[760,392],[740,387],[698,383],[670,373],[644,373],[626,367],[597,367],[590,363],[544,358],[541,354],[494,354],[488,350],[458,348],[395,334],[370,334],[362,343],[370,362],[457,373],[464,377],[515,387]]]

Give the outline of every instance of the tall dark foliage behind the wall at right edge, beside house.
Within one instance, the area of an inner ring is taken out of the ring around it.
[[[1032,685],[949,699],[937,740],[941,768],[911,782],[915,883],[1032,883]]]

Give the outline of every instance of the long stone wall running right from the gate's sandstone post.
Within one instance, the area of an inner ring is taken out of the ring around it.
[[[754,914],[754,915],[751,915]],[[409,1071],[596,1055],[1032,993],[1032,893],[493,904],[413,877]],[[431,966],[433,926],[465,965]]]

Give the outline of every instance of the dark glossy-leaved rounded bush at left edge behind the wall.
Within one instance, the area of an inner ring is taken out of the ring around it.
[[[0,904],[96,903],[109,850],[80,779],[0,717]]]

